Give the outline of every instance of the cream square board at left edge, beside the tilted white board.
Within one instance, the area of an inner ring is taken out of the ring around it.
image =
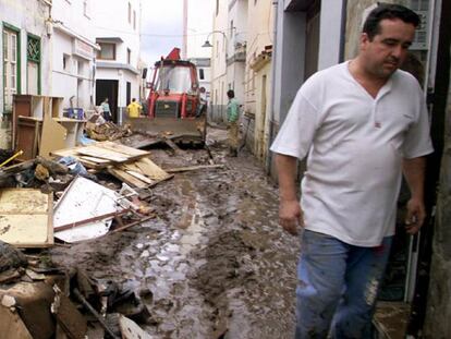
[[[33,189],[0,191],[0,240],[17,247],[53,244],[53,199]]]

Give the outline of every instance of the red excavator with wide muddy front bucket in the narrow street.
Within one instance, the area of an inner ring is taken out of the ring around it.
[[[204,143],[206,102],[200,100],[197,69],[181,60],[179,48],[155,63],[149,87],[147,118],[129,119],[132,129],[174,142]]]

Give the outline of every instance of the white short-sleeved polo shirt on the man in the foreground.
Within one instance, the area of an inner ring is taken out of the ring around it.
[[[397,71],[373,98],[348,62],[308,78],[271,150],[303,159],[306,229],[357,246],[394,234],[402,158],[432,152],[423,92]]]

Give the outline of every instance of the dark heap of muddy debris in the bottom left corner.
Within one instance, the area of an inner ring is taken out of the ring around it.
[[[136,324],[153,322],[142,301],[149,294],[51,267],[0,241],[2,338],[150,338]]]

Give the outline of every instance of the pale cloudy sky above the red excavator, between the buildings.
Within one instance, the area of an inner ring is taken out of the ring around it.
[[[188,0],[188,38],[202,45],[212,27],[214,0]],[[142,58],[151,65],[174,47],[182,49],[183,0],[142,0]],[[192,19],[190,21],[190,17]],[[193,39],[194,38],[194,39]],[[202,44],[200,44],[202,43]],[[188,47],[188,50],[190,49]],[[202,52],[198,49],[198,52]],[[210,51],[204,51],[205,53]]]

